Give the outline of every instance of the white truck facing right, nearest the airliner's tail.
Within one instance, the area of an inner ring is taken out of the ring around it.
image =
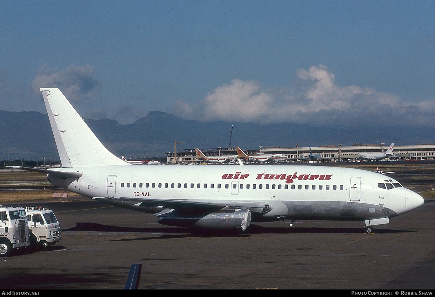
[[[55,244],[62,239],[60,224],[53,211],[47,208],[27,206],[27,222],[30,228],[30,244],[32,246]]]

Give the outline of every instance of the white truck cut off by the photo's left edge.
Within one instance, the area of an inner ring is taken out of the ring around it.
[[[26,210],[0,205],[0,256],[9,256],[13,248],[29,246],[29,235]]]

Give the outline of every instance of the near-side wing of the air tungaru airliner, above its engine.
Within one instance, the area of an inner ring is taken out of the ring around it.
[[[270,203],[266,201],[227,201],[205,199],[148,199],[148,198],[123,198],[123,197],[93,197],[92,199],[103,201],[107,204],[119,204],[122,201],[137,202],[137,207],[160,207],[164,208],[196,208],[219,210],[224,207],[249,208],[252,212],[264,213],[271,210]]]

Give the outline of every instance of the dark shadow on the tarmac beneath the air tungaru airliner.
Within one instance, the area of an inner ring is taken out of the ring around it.
[[[241,236],[246,237],[251,234],[294,234],[294,233],[307,233],[307,234],[325,234],[325,233],[353,233],[361,234],[364,232],[363,228],[318,228],[318,227],[264,227],[256,224],[251,224],[245,231],[223,231],[223,230],[207,230],[195,229],[185,227],[147,227],[147,228],[134,228],[134,227],[119,227],[90,222],[76,223],[76,227],[63,229],[62,232],[67,231],[96,231],[96,232],[125,232],[125,233],[144,233],[144,234],[157,234],[158,238],[180,238],[192,236],[209,236],[209,237],[222,237],[222,236]],[[409,230],[395,230],[395,229],[382,229],[376,228],[374,233],[387,234],[387,233],[407,233],[415,232]],[[155,237],[152,237],[155,239]],[[149,238],[134,238],[122,239],[121,241],[130,240],[145,240]]]

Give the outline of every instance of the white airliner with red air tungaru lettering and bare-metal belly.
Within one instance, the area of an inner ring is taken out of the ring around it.
[[[56,88],[43,99],[63,168],[47,174],[61,188],[137,211],[161,224],[244,230],[252,222],[363,221],[373,225],[424,203],[375,172],[323,166],[135,166],[109,152]]]

